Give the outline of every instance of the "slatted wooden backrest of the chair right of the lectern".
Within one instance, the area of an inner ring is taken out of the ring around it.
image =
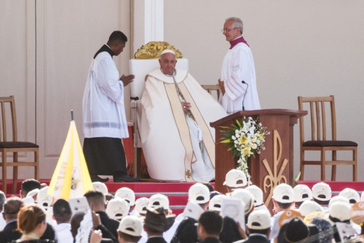
[[[304,110],[304,104],[309,103],[310,122],[311,122],[311,140],[330,139],[327,133],[326,122],[326,105],[330,104],[331,115],[331,139],[336,140],[336,117],[334,96],[329,97],[298,97],[298,109]],[[304,117],[300,118],[300,141],[305,142],[304,135]],[[329,130],[330,131],[330,130]]]

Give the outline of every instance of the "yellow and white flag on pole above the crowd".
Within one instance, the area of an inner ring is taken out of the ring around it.
[[[79,198],[94,187],[87,169],[75,121],[71,121],[66,142],[49,184],[48,194],[54,198]]]

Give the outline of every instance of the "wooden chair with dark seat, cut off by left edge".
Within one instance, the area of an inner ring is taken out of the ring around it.
[[[18,184],[18,166],[34,166],[34,179],[39,180],[39,146],[33,142],[19,142],[17,136],[17,116],[15,112],[14,96],[0,97],[1,105],[1,121],[0,121],[0,152],[2,167],[2,191],[6,194],[6,168],[13,166],[13,194],[17,192]],[[6,116],[7,114],[7,116]],[[10,121],[12,128],[6,127],[6,122]],[[7,132],[12,132],[11,136],[7,136]],[[19,162],[18,153],[34,152],[34,161]],[[13,162],[7,162],[7,153],[13,153]]]

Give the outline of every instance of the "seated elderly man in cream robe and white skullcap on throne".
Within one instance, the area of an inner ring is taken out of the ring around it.
[[[175,69],[172,50],[162,52],[147,75],[140,136],[151,178],[162,181],[211,181],[215,177],[215,131],[227,115],[187,70]]]

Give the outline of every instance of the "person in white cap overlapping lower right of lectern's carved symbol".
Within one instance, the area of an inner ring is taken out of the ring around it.
[[[292,186],[281,183],[278,184],[273,189],[272,195],[273,202],[273,213],[274,215],[270,218],[271,220],[271,229],[270,229],[270,237],[269,239],[273,241],[279,233],[279,217],[283,214],[286,209],[289,209],[292,205],[294,205],[294,192]]]

